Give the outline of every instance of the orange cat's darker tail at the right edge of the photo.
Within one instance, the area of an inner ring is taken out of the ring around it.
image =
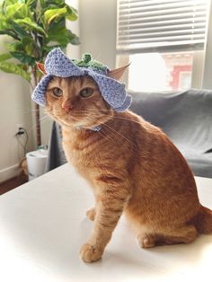
[[[199,234],[212,234],[212,210],[201,206],[198,215],[193,218],[193,224]]]

